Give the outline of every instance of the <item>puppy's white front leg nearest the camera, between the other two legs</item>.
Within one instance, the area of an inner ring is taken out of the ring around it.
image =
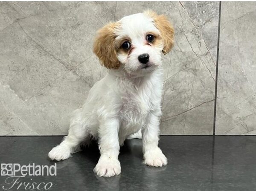
[[[119,155],[119,121],[118,119],[108,119],[99,126],[99,151],[100,158],[94,172],[99,177],[112,177],[121,172]]]

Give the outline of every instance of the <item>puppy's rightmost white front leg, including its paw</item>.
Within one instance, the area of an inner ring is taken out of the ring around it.
[[[142,130],[144,163],[149,166],[161,167],[167,164],[167,158],[158,147],[160,117],[154,113],[148,116],[148,122]]]

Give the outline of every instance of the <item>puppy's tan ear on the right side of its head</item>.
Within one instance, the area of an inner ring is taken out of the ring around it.
[[[163,53],[167,54],[174,46],[174,29],[172,24],[165,15],[157,15],[156,12],[151,10],[145,11],[144,14],[153,18],[155,26],[161,33],[161,38],[163,41]]]

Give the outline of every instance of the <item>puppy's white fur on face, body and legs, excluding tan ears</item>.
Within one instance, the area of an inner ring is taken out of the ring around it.
[[[49,158],[64,160],[79,150],[81,142],[98,139],[101,157],[94,168],[98,176],[119,175],[119,146],[125,139],[141,137],[144,163],[164,166],[167,159],[158,147],[163,88],[161,51],[145,44],[148,31],[160,33],[152,18],[140,13],[123,17],[116,38],[129,36],[134,46],[130,55],[118,53],[121,65],[91,88],[82,108],[73,113],[70,130],[60,145],[52,148]],[[141,68],[138,56],[150,55],[151,67]],[[140,132],[141,131],[141,132]]]

